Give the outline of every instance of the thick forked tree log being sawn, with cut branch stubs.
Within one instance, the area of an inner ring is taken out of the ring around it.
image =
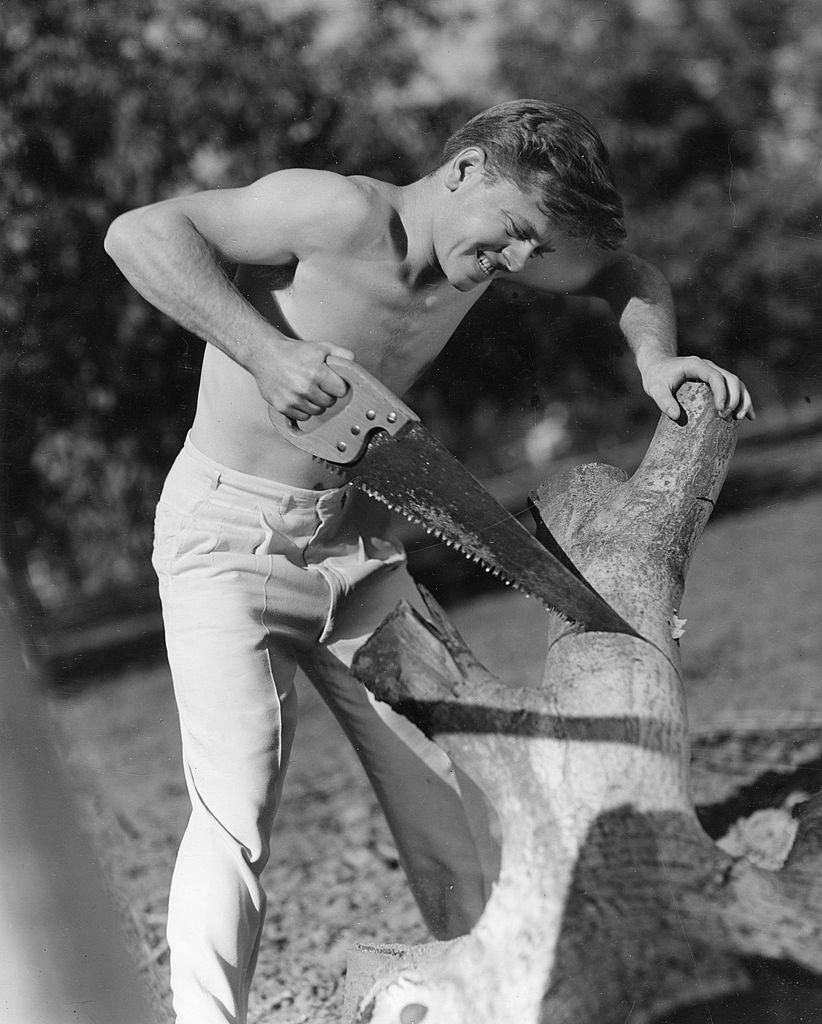
[[[482,786],[503,849],[469,935],[360,953],[357,1024],[645,1024],[711,1007],[715,1024],[751,1022],[738,993],[788,976],[822,1010],[819,798],[779,871],[721,849],[695,813],[678,608],[738,424],[704,385],[679,398],[632,477],[582,466],[532,496],[537,532],[642,639],[548,616],[540,686],[509,687],[432,602],[432,622],[400,606],[358,653],[357,677]]]

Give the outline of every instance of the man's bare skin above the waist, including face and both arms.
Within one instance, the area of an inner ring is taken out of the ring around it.
[[[612,239],[591,244],[591,223],[566,230],[535,183],[490,170],[482,146],[469,145],[402,187],[295,168],[121,214],[106,252],[140,295],[207,342],[192,427],[201,451],[284,483],[337,482],[280,437],[269,411],[304,419],[341,395],[329,354],[353,356],[402,395],[491,281],[512,274],[539,293],[605,299],[666,415],[679,416],[676,387],[696,379],[710,383],[718,410],[753,418],[738,378],[677,356],[659,271]],[[241,267],[236,289],[216,257]]]

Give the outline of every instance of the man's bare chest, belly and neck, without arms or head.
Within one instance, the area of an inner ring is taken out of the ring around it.
[[[235,284],[295,344],[306,339],[349,348],[361,366],[403,394],[485,288],[459,292],[435,268],[428,280],[408,280],[396,189],[367,178],[353,180],[370,211],[353,244],[330,223],[323,244],[310,255],[284,266],[243,266]],[[206,346],[191,429],[197,446],[232,469],[293,486],[339,483],[336,473],[282,438],[268,414],[254,377]]]

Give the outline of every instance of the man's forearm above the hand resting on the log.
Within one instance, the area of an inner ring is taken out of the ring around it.
[[[641,374],[655,360],[677,354],[670,286],[655,267],[623,253],[600,272],[591,291],[611,306]]]

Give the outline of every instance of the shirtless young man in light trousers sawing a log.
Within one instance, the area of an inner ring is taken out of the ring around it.
[[[434,935],[471,927],[495,869],[470,780],[347,673],[401,598],[421,607],[388,518],[280,438],[270,408],[304,420],[343,395],[330,354],[401,395],[516,274],[607,299],[663,413],[679,415],[688,379],[708,383],[721,415],[752,417],[737,377],[677,355],[668,286],[623,238],[599,136],[535,100],[478,115],[405,186],[285,170],[112,225],[106,249],[128,280],[209,343],[154,559],[192,803],[169,904],[180,1024],[246,1019],[298,665],[354,744]],[[220,261],[239,266],[233,281]]]

